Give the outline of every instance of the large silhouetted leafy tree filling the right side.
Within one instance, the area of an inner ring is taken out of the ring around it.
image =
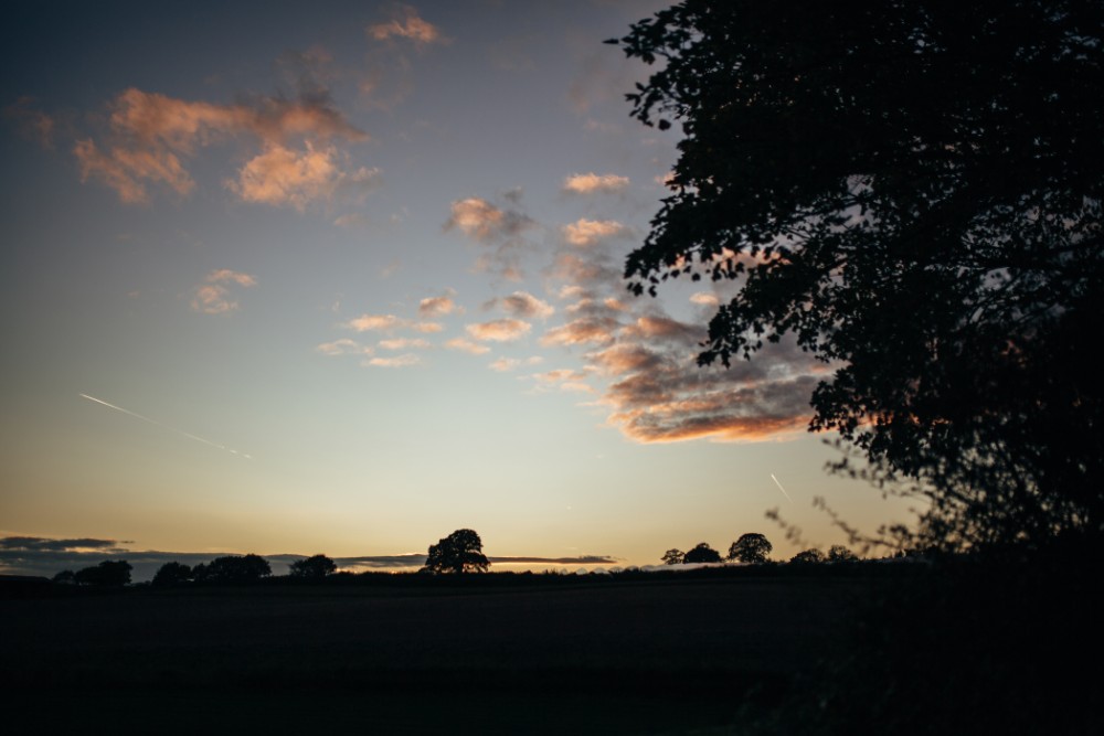
[[[1104,7],[686,0],[612,43],[684,135],[630,288],[736,281],[701,365],[825,362],[809,428],[934,537],[1104,531]]]

